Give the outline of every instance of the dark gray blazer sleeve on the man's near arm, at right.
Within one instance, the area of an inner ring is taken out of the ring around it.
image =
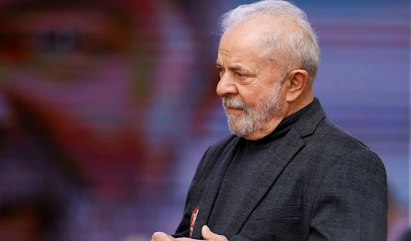
[[[358,150],[340,158],[316,193],[309,240],[386,240],[387,189],[384,164],[375,153]]]

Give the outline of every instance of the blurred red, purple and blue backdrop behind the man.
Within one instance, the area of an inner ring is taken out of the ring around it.
[[[251,2],[0,0],[0,241],[173,233],[229,134],[217,21]],[[410,2],[294,3],[320,39],[316,96],[384,160],[388,240],[407,240]]]

